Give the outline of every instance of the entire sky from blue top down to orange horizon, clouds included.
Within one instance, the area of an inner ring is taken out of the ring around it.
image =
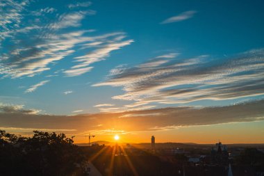
[[[0,129],[264,143],[263,6],[3,0]]]

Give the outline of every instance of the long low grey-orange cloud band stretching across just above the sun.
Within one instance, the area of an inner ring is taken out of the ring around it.
[[[171,107],[117,113],[81,115],[42,115],[0,113],[1,127],[23,129],[76,129],[76,134],[89,131],[160,131],[181,127],[217,125],[264,120],[264,100],[211,107]]]

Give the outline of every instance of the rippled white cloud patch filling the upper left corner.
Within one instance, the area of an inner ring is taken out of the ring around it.
[[[28,13],[34,3],[12,0],[1,3],[2,77],[34,77],[51,70],[54,65],[73,54],[76,56],[73,66],[65,68],[64,73],[67,77],[79,76],[90,72],[92,63],[103,61],[110,56],[111,51],[132,42],[124,40],[125,33],[94,35],[94,29],[80,30],[83,19],[96,14],[96,11],[88,9],[90,2],[66,4],[65,9],[54,4],[31,9],[31,13]]]

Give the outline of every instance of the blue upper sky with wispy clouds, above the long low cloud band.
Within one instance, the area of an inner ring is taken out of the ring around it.
[[[1,1],[0,111],[77,115],[258,102],[263,6]]]

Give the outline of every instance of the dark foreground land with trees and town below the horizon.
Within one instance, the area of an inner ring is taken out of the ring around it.
[[[0,175],[264,175],[263,145],[108,144],[78,146],[65,134],[34,131],[25,138],[0,130]]]

